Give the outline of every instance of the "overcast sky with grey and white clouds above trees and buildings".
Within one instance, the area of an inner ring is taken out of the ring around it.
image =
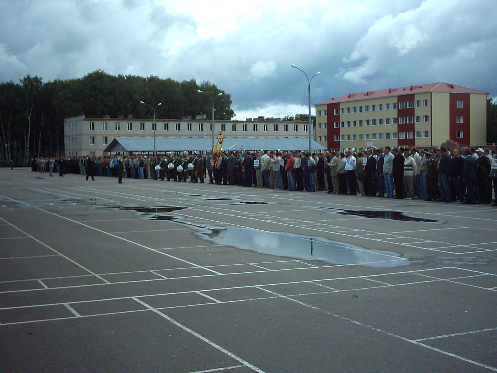
[[[495,0],[0,0],[0,81],[209,80],[236,119],[447,82],[497,96]],[[158,97],[160,100],[160,97]],[[314,112],[314,106],[313,106]]]

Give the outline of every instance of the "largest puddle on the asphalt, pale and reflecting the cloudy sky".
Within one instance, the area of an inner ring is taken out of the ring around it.
[[[410,265],[399,253],[366,249],[322,237],[284,232],[266,232],[250,228],[200,229],[197,237],[218,245],[234,246],[261,254],[316,260],[329,264],[388,268]]]

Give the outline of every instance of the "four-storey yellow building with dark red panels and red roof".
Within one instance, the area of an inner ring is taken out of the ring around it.
[[[487,94],[447,83],[349,93],[316,104],[316,140],[328,149],[485,144]]]

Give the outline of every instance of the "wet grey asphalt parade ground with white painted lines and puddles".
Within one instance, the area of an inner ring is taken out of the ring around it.
[[[497,371],[497,209],[0,169],[1,372]]]

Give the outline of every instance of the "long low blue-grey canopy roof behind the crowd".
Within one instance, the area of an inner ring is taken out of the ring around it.
[[[326,150],[316,141],[311,141],[313,150]],[[156,152],[209,151],[212,138],[209,137],[156,137]],[[223,150],[307,150],[309,139],[302,137],[227,137]],[[153,137],[116,137],[104,152],[151,152],[154,150]]]

